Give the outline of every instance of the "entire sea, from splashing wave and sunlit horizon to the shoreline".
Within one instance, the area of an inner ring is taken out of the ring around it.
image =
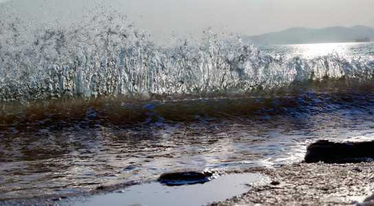
[[[318,139],[374,137],[374,43],[252,45],[207,30],[155,45],[112,14],[28,38],[0,25],[0,200],[276,167]]]

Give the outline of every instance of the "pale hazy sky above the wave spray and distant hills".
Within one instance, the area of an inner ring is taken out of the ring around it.
[[[0,0],[1,1],[1,0]],[[176,34],[201,35],[208,27],[228,32],[256,35],[289,27],[330,27],[366,25],[374,27],[374,0],[84,0],[113,3],[124,10],[130,21],[148,30],[153,38]],[[74,0],[7,0],[23,2],[17,12],[39,15],[41,9],[54,7],[76,10],[84,1]],[[26,3],[27,2],[27,3]],[[58,3],[52,3],[58,2]],[[40,4],[44,5],[41,6]],[[0,3],[0,7],[3,3]],[[37,9],[39,8],[39,10]],[[52,10],[52,9],[51,9]],[[47,11],[44,11],[47,12]],[[69,13],[69,12],[67,12]],[[71,12],[70,12],[71,13]],[[0,14],[0,17],[3,14]]]

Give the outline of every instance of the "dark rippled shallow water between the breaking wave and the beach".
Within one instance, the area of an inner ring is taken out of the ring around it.
[[[172,102],[161,108],[157,108],[161,103],[154,103],[156,114],[138,117],[140,123],[90,119],[91,113],[79,120],[52,121],[54,115],[49,113],[43,116],[47,119],[7,125],[0,144],[1,196],[85,191],[102,183],[157,179],[163,172],[184,168],[276,166],[303,160],[305,147],[317,139],[372,139],[371,95],[336,102],[343,97],[326,97],[324,102],[314,97],[307,102],[308,98],[296,96],[296,105],[292,105],[295,97],[278,98],[272,100],[275,106],[265,101],[254,111],[248,107],[252,98]],[[199,105],[190,112],[192,117],[163,110],[180,109],[175,104]],[[236,108],[217,114],[211,106]]]

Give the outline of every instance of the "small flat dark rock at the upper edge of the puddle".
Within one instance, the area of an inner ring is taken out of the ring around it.
[[[214,174],[215,172],[210,171],[170,172],[160,175],[157,181],[169,186],[206,183],[207,181],[214,179]]]

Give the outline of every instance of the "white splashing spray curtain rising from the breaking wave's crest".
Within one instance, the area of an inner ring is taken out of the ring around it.
[[[80,23],[20,37],[21,22],[2,22],[2,102],[126,93],[251,93],[324,79],[370,80],[373,58],[338,54],[303,58],[264,54],[232,36],[207,30],[203,43],[153,45],[123,14],[102,5]],[[19,25],[18,25],[19,24]]]

